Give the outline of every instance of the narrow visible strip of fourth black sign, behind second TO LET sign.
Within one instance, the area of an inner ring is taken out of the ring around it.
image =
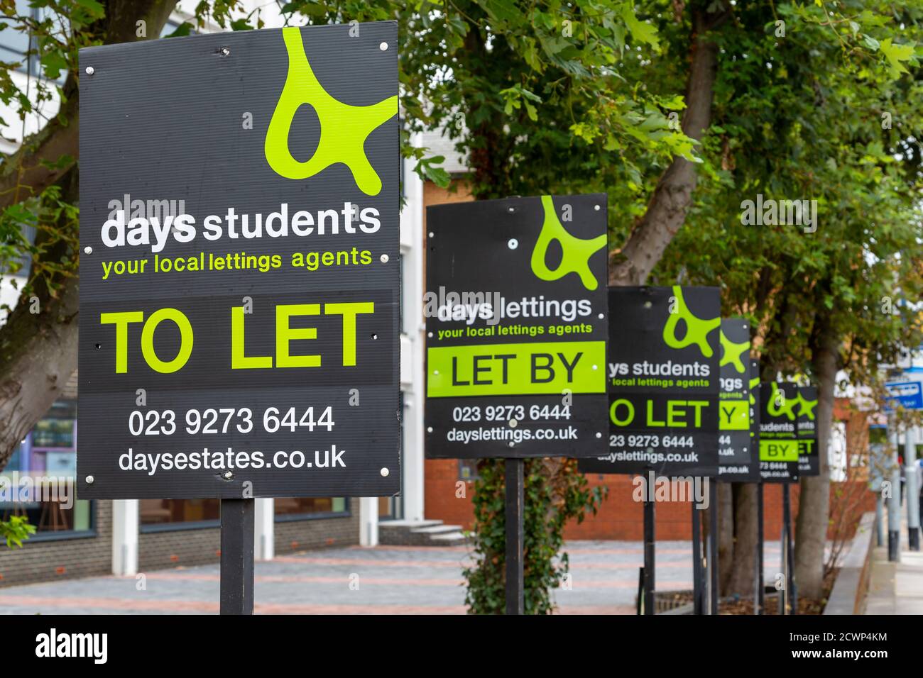
[[[718,478],[728,482],[760,478],[759,454],[750,441],[749,345],[749,322],[721,321]]]

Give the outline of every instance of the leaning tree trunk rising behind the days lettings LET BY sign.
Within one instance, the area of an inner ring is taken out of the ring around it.
[[[686,136],[701,140],[711,124],[714,80],[718,72],[717,42],[711,30],[723,24],[730,16],[724,2],[717,11],[709,11],[714,3],[693,3],[691,63],[686,86],[686,111],[682,129]],[[664,255],[679,227],[686,220],[696,186],[694,163],[676,158],[661,175],[648,201],[644,216],[635,225],[628,243],[609,255],[609,285],[643,285],[653,268]]]

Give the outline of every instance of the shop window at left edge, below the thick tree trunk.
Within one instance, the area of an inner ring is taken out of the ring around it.
[[[75,497],[77,400],[56,400],[0,472],[0,519],[26,517],[30,541],[93,536],[95,505]]]

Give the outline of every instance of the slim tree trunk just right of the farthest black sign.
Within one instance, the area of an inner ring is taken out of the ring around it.
[[[821,474],[800,481],[798,516],[795,528],[795,578],[798,593],[804,598],[823,597],[824,545],[830,514],[830,468],[827,446],[833,427],[833,387],[836,382],[839,342],[832,329],[823,324],[813,351],[814,374],[818,379],[817,455]]]

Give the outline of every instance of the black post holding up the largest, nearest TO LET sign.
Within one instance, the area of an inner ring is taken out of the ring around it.
[[[221,613],[253,614],[253,499],[222,499]]]

